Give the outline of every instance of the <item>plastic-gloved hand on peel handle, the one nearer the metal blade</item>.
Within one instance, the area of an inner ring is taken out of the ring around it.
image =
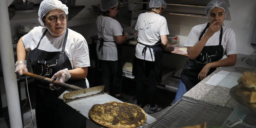
[[[65,69],[59,70],[57,73],[55,73],[55,74],[52,76],[52,79],[57,78],[56,81],[60,81],[60,82],[63,82],[63,83],[64,83],[64,82],[66,82],[70,77],[71,77],[70,72],[68,71],[67,68],[65,68]],[[58,90],[59,88],[61,88],[61,87],[59,87],[59,86],[57,86],[57,85],[54,85],[54,84],[50,84],[50,89],[51,89],[51,90],[54,90],[54,89]]]

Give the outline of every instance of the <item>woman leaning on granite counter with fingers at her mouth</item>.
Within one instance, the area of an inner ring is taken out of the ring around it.
[[[196,25],[190,31],[184,44],[188,47],[188,59],[181,72],[174,103],[216,70],[216,67],[235,65],[235,33],[231,28],[222,26],[227,17],[227,10],[227,3],[224,0],[212,0],[205,8],[210,22]],[[227,58],[220,60],[224,55]]]

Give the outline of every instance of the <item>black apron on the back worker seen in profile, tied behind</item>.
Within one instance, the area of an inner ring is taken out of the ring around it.
[[[110,17],[107,14],[103,14],[103,15]],[[121,27],[123,28],[122,34],[124,35],[124,27],[123,26],[121,26]],[[114,42],[114,43],[116,43],[115,41],[105,41],[102,37],[99,40],[100,40],[100,45],[98,47],[98,51],[101,51],[101,55],[103,55],[103,43],[104,42]],[[118,86],[121,86],[121,84],[122,84],[122,75],[123,75],[123,61],[122,61],[123,45],[116,43],[116,46],[117,46],[117,82],[116,82],[116,84],[118,84]]]

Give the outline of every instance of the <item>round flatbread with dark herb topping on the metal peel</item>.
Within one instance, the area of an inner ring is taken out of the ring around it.
[[[94,104],[88,116],[94,122],[110,128],[132,128],[147,119],[146,113],[139,106],[117,101]]]

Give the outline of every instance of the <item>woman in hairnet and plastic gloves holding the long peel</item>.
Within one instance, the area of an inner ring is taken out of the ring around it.
[[[33,73],[86,88],[89,50],[85,38],[67,28],[68,7],[58,0],[40,3],[38,21],[17,43],[17,75],[23,76],[26,54]],[[36,125],[38,128],[86,127],[86,118],[58,99],[65,89],[36,80]]]

